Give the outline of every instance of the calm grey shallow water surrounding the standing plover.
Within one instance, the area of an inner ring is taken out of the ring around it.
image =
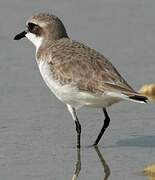
[[[147,179],[141,172],[155,163],[155,104],[109,108],[111,124],[99,151],[89,145],[101,128],[101,110],[81,109],[79,153],[74,123],[41,79],[34,47],[13,37],[31,14],[51,10],[69,36],[104,53],[138,90],[155,81],[154,7],[154,0],[0,2],[0,179],[72,179],[79,157],[78,180]]]

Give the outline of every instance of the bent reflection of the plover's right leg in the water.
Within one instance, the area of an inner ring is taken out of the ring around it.
[[[108,164],[106,163],[105,159],[103,158],[98,146],[95,146],[95,150],[97,152],[97,155],[98,155],[98,157],[101,161],[101,164],[103,166],[103,169],[104,169],[104,173],[105,173],[104,180],[107,180],[110,176],[110,168],[109,168]]]

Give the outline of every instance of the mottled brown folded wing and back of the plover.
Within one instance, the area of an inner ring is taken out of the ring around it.
[[[50,49],[48,63],[61,84],[73,83],[80,90],[97,94],[107,89],[134,93],[115,67],[97,51],[69,39],[57,41]]]

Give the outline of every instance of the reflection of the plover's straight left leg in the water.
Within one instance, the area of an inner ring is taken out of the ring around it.
[[[81,171],[81,149],[77,148],[76,167],[75,167],[75,172],[74,172],[74,175],[72,177],[72,180],[77,180],[80,171]]]

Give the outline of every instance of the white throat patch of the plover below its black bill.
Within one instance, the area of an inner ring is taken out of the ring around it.
[[[39,47],[42,44],[43,41],[43,37],[38,37],[33,33],[28,32],[26,34],[26,37],[35,45],[36,47],[36,52],[38,51]]]

